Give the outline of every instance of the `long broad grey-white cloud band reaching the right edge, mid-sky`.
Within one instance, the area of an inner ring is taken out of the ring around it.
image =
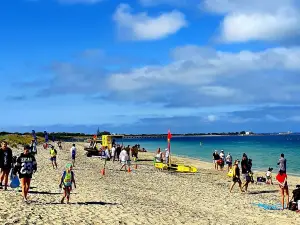
[[[186,46],[171,55],[169,65],[111,75],[110,97],[202,107],[300,103],[300,48],[230,53]]]

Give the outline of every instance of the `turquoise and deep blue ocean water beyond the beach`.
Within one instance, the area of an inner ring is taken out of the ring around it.
[[[202,145],[200,145],[200,142]],[[124,144],[140,144],[148,151],[167,147],[166,139],[124,139]],[[277,162],[281,153],[287,159],[287,172],[300,175],[300,135],[278,136],[206,136],[173,137],[171,153],[180,156],[212,162],[214,149],[223,149],[231,153],[233,159],[242,158],[245,152],[253,160],[253,170],[266,171],[273,167],[277,171]]]

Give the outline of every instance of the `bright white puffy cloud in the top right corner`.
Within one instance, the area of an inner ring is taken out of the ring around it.
[[[224,42],[282,41],[300,35],[300,9],[296,0],[205,0],[202,7],[224,15]]]

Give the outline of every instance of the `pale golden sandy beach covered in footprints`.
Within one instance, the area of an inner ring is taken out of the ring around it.
[[[130,173],[120,172],[118,162],[108,162],[102,176],[104,161],[86,157],[83,144],[76,145],[77,189],[71,204],[60,204],[58,188],[63,168],[70,161],[71,143],[58,150],[58,170],[51,166],[49,151],[39,147],[31,202],[23,203],[21,193],[10,188],[0,190],[0,224],[300,224],[296,212],[252,205],[279,203],[277,185],[252,184],[248,193],[239,193],[236,186],[229,193],[231,179],[225,172],[213,170],[211,163],[172,157],[198,167],[199,172],[161,172],[153,166],[153,153],[140,153],[138,168]],[[298,183],[299,178],[289,176],[290,192]]]

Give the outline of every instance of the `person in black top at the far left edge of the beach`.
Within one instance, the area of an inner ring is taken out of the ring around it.
[[[7,190],[8,176],[12,167],[13,155],[12,150],[7,147],[7,142],[1,142],[0,149],[0,169],[1,169],[1,181],[0,188],[2,188],[2,182],[4,181],[4,190]]]

